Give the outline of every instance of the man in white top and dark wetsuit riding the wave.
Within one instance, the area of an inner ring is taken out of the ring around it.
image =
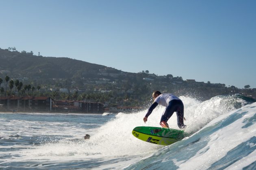
[[[163,106],[166,106],[160,121],[160,125],[162,127],[169,128],[167,121],[168,119],[170,119],[174,112],[176,112],[177,114],[178,127],[180,127],[180,129],[186,127],[186,125],[184,125],[183,123],[184,105],[178,97],[174,96],[173,94],[161,94],[160,91],[154,91],[152,97],[154,99],[154,102],[151,104],[150,108],[148,109],[148,113],[143,118],[143,121],[145,123],[146,121],[148,121],[148,116],[152,113],[154,108],[156,108],[158,104],[161,104]]]

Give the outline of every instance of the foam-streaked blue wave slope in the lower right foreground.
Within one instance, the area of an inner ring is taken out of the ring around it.
[[[125,169],[255,169],[255,117],[256,103],[224,113]]]

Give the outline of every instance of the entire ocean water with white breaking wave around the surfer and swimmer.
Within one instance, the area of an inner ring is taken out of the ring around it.
[[[0,113],[0,169],[256,169],[256,102],[240,95],[180,98],[191,135],[169,146],[132,135],[136,126],[159,127],[161,106],[147,123],[146,108],[102,115]],[[168,123],[178,129],[176,114]]]

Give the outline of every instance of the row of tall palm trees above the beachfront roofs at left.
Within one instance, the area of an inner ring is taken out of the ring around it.
[[[6,76],[5,78],[5,82],[6,82],[6,85],[5,85],[5,95],[4,95],[4,97],[6,97],[7,96],[7,85],[8,85],[8,82],[9,82],[9,88],[10,88],[10,91],[9,91],[9,94],[10,95],[12,95],[12,89],[13,89],[13,87],[14,87],[14,85],[15,85],[15,93],[14,93],[14,95],[16,94],[16,91],[18,91],[18,95],[20,96],[20,94],[22,93],[22,94],[26,94],[26,90],[28,91],[28,93],[27,93],[27,95],[29,96],[29,91],[30,91],[30,89],[32,90],[32,96],[33,96],[33,94],[34,94],[34,91],[35,91],[35,87],[34,86],[32,86],[31,87],[31,85],[30,84],[28,84],[28,85],[24,85],[23,86],[23,83],[22,82],[20,82],[19,80],[15,80],[15,81],[13,81],[13,79],[11,79],[10,80],[10,77],[9,76]],[[2,96],[2,94],[4,93],[4,88],[3,87],[1,87],[1,84],[3,83],[3,80],[2,80],[2,78],[0,78],[0,92],[1,92],[1,96]],[[23,88],[22,88],[23,87]],[[37,96],[38,96],[38,93],[39,93],[39,90],[41,89],[41,86],[37,86]]]

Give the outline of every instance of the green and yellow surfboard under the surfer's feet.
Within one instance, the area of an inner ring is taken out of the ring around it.
[[[183,130],[169,129],[163,127],[138,126],[132,130],[133,136],[160,145],[170,145],[185,137]]]

